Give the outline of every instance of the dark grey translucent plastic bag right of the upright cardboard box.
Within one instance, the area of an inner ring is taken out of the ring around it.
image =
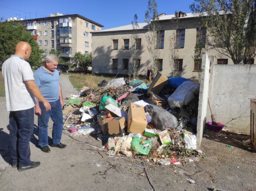
[[[144,109],[145,112],[148,112],[151,116],[153,123],[162,131],[166,127],[177,127],[177,118],[163,108],[157,105],[149,104],[146,105]]]

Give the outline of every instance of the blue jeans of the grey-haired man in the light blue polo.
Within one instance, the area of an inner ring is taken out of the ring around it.
[[[39,102],[41,115],[38,117],[38,145],[40,147],[45,147],[48,145],[48,122],[50,117],[53,121],[52,144],[60,144],[63,127],[63,114],[60,99],[55,102],[50,102],[50,104],[51,110],[46,111],[44,104]]]

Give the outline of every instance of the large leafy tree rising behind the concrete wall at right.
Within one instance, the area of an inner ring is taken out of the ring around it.
[[[191,11],[207,28],[206,44],[234,64],[247,64],[256,52],[255,0],[195,0]]]

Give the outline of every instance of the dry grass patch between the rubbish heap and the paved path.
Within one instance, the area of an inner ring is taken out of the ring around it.
[[[80,88],[83,88],[84,86],[89,88],[98,87],[98,84],[102,80],[110,81],[114,79],[114,77],[97,76],[97,75],[88,74],[88,73],[87,74],[84,74],[84,73],[70,74],[68,77],[70,82],[72,83],[74,88],[76,88],[77,91],[79,91]]]

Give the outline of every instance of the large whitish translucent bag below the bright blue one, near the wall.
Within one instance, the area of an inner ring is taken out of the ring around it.
[[[200,85],[193,81],[184,81],[174,93],[168,97],[168,103],[171,109],[175,107],[181,108],[183,105],[190,103],[199,93]]]

